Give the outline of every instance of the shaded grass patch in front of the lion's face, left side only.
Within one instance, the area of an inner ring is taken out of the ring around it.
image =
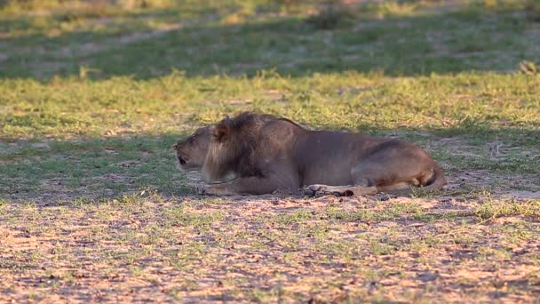
[[[171,145],[179,134],[2,144],[0,194],[14,201],[59,202],[159,191],[189,193]]]

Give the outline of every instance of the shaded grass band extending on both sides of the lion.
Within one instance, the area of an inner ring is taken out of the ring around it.
[[[371,133],[391,135],[395,131]],[[112,199],[142,191],[155,191],[167,197],[194,195],[194,188],[187,186],[187,177],[179,172],[171,150],[171,145],[186,135],[0,142],[0,199],[58,203]],[[445,142],[441,136],[459,138],[461,143]],[[540,182],[540,151],[534,149],[534,142],[540,140],[539,130],[402,129],[397,137],[426,148],[436,161],[444,164],[449,176],[456,172],[488,171],[500,176],[501,182],[503,177],[520,174],[532,176],[533,180],[528,181],[533,184]],[[487,150],[494,138],[504,144],[495,157]],[[474,150],[480,153],[474,156]]]

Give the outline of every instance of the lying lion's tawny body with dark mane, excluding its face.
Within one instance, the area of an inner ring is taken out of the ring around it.
[[[353,132],[309,131],[294,122],[243,112],[225,118],[211,132],[208,150],[182,159],[202,163],[208,195],[262,195],[274,191],[307,195],[373,195],[410,186],[440,189],[441,167],[409,142]],[[195,136],[197,138],[197,136]],[[180,150],[179,150],[180,151]]]

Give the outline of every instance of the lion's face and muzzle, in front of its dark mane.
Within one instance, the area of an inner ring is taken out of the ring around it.
[[[182,171],[201,170],[208,153],[212,126],[197,129],[186,140],[179,140],[173,146],[179,159],[179,167]]]

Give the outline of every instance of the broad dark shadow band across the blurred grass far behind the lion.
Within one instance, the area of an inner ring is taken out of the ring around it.
[[[139,20],[163,16],[171,17],[162,11],[131,16],[136,25],[126,31],[119,26],[118,32],[6,39],[0,77],[147,79],[172,69],[187,76],[253,76],[263,69],[283,76],[347,70],[418,76],[515,69],[520,60],[535,60],[534,46],[540,44],[538,36],[526,35],[536,25],[512,12],[464,9],[385,19],[346,17],[333,29],[317,28],[299,17],[231,25],[216,21],[219,15],[195,23],[177,17],[161,29]],[[8,27],[5,21],[2,27]]]

